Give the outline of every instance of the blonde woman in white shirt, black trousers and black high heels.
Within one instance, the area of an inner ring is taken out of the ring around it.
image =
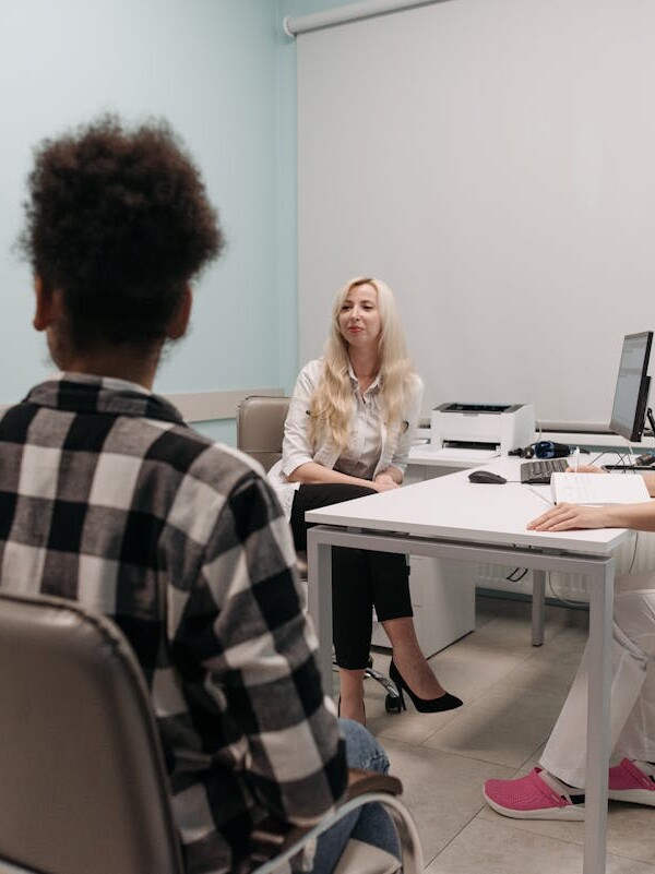
[[[324,357],[298,376],[283,457],[270,472],[297,549],[307,548],[308,510],[400,487],[421,397],[391,289],[379,279],[353,279],[336,296]],[[366,719],[373,607],[391,642],[390,675],[401,696],[407,692],[420,713],[460,707],[416,639],[405,556],[333,549],[332,577],[342,716]]]

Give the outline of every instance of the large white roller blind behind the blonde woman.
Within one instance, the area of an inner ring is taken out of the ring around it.
[[[607,423],[655,326],[655,2],[451,0],[298,38],[300,351],[385,279],[445,400]]]

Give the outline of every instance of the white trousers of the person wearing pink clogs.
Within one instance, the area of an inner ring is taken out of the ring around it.
[[[655,762],[655,574],[617,580],[611,646],[610,750]],[[587,728],[588,646],[569,696],[540,758],[546,770],[584,788]]]

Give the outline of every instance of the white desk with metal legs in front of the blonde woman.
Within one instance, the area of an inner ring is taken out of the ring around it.
[[[514,458],[501,458],[484,467],[511,480],[519,478],[519,464]],[[527,531],[526,523],[546,508],[546,502],[525,486],[474,484],[468,482],[467,471],[462,471],[311,511],[307,519],[317,525],[308,531],[309,612],[319,635],[323,681],[330,689],[333,546],[585,575],[590,583],[588,707],[593,717],[587,728],[583,874],[605,874],[615,577],[611,553],[631,532]]]

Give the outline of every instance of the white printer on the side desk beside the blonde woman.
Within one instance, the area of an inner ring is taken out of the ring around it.
[[[533,404],[440,404],[432,410],[430,444],[444,447],[495,448],[501,455],[534,443]]]

